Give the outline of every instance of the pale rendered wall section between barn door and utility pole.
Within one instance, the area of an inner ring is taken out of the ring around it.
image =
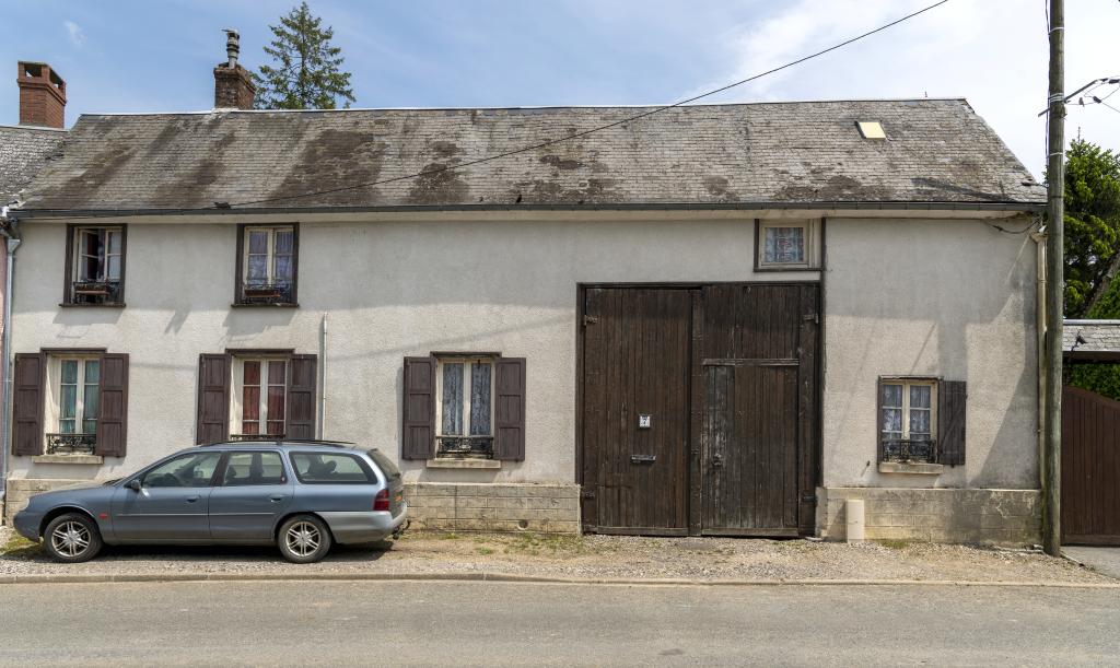
[[[819,529],[836,536],[839,527],[842,536],[834,502],[870,493],[858,488],[900,489],[894,497],[867,496],[869,535],[881,519],[883,527],[893,527],[890,537],[903,537],[897,535],[899,524],[930,526],[900,516],[960,518],[953,508],[972,507],[979,518],[982,507],[1000,502],[993,492],[959,493],[956,500],[923,505],[926,492],[907,496],[905,488],[1037,490],[1037,285],[1030,236],[1001,233],[980,220],[830,220],[827,234],[827,499],[820,499]],[[879,471],[879,376],[968,383],[963,465],[944,467],[940,474]],[[1018,504],[1020,497],[1026,498],[1009,491],[1008,504]],[[1027,515],[1038,511],[1034,502],[1020,506]],[[915,529],[913,535],[968,535],[954,533],[963,526],[960,521],[949,521],[940,534]],[[1011,525],[1008,535],[1029,533]]]

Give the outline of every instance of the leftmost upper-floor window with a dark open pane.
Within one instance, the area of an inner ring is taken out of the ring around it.
[[[67,304],[124,301],[124,227],[71,226]]]

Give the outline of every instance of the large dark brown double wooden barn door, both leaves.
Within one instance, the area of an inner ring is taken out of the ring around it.
[[[588,288],[586,530],[813,530],[818,289]]]

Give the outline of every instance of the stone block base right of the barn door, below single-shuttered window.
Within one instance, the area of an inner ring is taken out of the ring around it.
[[[868,539],[1032,545],[1042,542],[1042,492],[1026,489],[818,488],[816,528],[843,540],[844,501],[864,499]]]

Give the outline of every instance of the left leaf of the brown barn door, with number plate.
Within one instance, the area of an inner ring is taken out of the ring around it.
[[[688,533],[694,292],[591,288],[585,294],[582,511],[588,530]]]

